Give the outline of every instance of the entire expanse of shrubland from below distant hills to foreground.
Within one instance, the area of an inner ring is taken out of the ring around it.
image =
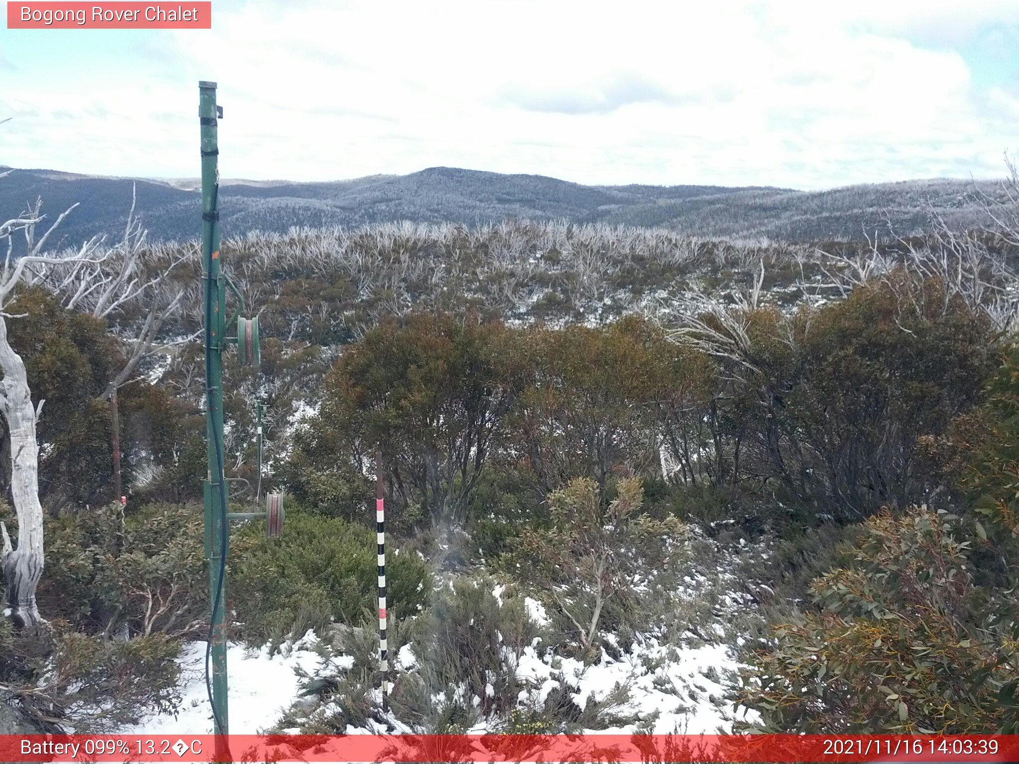
[[[390,654],[417,663],[392,706],[415,728],[609,725],[629,713],[623,689],[578,705],[564,673],[536,694],[519,662],[596,663],[653,634],[745,638],[730,700],[762,728],[1012,729],[1017,245],[937,221],[874,248],[527,222],[224,242],[266,337],[259,371],[227,358],[231,500],[254,497],[259,399],[262,487],[289,507],[282,539],[254,523],[233,535],[232,633],[278,647],[312,629],[354,659],[309,676],[280,728],[385,718],[381,451],[399,550]],[[140,262],[173,265],[169,296],[151,297],[173,309],[115,402],[148,309],[81,310],[58,272],[8,306],[46,401],[39,602],[53,627],[43,645],[0,634],[0,681],[44,726],[169,707],[172,658],[207,627],[200,310],[182,288],[197,261],[158,244]]]

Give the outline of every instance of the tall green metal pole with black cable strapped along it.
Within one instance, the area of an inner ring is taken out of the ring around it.
[[[225,735],[229,732],[226,702],[226,582],[227,523],[223,506],[223,360],[225,309],[219,276],[219,161],[216,84],[199,83],[199,116],[202,124],[202,275],[205,281],[206,437],[209,473],[205,492],[205,519],[209,559],[209,593],[212,600],[210,629],[212,661],[213,732],[215,761],[229,761]]]

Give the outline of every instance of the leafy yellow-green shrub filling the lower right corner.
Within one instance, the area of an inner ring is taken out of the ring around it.
[[[759,726],[952,734],[1012,723],[1016,643],[993,617],[1011,598],[978,583],[978,529],[926,506],[869,519],[852,564],[811,586],[816,608],[750,658],[740,702]]]

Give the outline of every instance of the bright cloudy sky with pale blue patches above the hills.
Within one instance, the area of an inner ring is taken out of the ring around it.
[[[0,164],[197,176],[200,79],[219,85],[232,178],[444,165],[816,189],[1000,177],[1019,154],[1019,0],[213,0],[212,13],[208,31],[0,29]]]

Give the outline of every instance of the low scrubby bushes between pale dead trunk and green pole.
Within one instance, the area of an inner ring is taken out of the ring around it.
[[[49,731],[114,731],[172,712],[178,638],[201,632],[208,606],[201,515],[150,505],[124,517],[109,505],[47,517],[46,535],[38,596],[50,631],[30,637],[0,619],[9,700]]]

